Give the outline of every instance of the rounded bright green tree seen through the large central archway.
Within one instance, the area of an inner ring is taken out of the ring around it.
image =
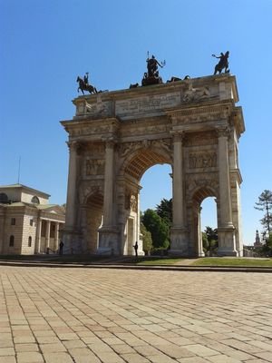
[[[170,227],[160,218],[156,211],[148,209],[142,215],[142,223],[151,232],[153,247],[167,249],[170,245]]]

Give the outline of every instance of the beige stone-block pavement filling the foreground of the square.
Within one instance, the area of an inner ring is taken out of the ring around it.
[[[272,362],[266,273],[0,267],[0,363]]]

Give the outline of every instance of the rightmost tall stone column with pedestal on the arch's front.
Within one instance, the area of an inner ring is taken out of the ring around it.
[[[219,250],[221,256],[237,256],[232,223],[231,193],[228,164],[228,128],[219,129]]]

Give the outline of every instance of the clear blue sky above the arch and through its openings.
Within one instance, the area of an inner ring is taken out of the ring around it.
[[[0,184],[18,180],[66,200],[68,150],[59,121],[71,119],[77,75],[100,90],[141,83],[147,52],[160,75],[213,73],[211,54],[230,52],[246,132],[239,142],[244,242],[262,230],[258,196],[271,190],[272,0],[0,0]],[[141,209],[170,198],[169,166],[141,180]],[[160,182],[158,182],[160,181]],[[154,183],[156,182],[156,192]],[[202,226],[215,223],[204,203]]]

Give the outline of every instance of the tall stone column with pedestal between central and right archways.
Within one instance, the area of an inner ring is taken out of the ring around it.
[[[187,256],[189,253],[188,233],[184,221],[183,147],[184,132],[175,132],[173,138],[173,226],[171,228],[170,254]]]

